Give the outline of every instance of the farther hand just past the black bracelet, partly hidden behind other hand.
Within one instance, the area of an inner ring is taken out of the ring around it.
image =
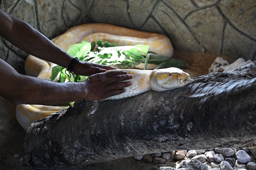
[[[79,61],[76,63],[73,72],[82,76],[91,76],[93,74],[102,73],[107,70],[115,70],[115,67],[104,66],[101,64],[96,64],[92,62],[82,62]]]

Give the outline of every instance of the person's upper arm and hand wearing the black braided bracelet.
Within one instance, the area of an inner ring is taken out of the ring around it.
[[[57,47],[43,34],[33,29],[26,22],[19,20],[0,9],[0,23],[0,36],[16,47],[35,57],[65,68],[68,67],[68,64],[73,57]],[[73,72],[79,75],[89,76],[112,69],[116,68],[79,61],[76,63]]]

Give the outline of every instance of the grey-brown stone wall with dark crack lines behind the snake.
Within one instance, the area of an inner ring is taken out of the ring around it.
[[[5,0],[0,8],[49,39],[103,22],[165,34],[186,52],[256,60],[255,0]],[[27,55],[0,39],[0,57],[20,72]]]

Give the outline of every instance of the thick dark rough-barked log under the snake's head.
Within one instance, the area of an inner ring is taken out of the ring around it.
[[[256,139],[256,62],[195,77],[185,87],[79,101],[32,124],[23,164],[74,166]]]

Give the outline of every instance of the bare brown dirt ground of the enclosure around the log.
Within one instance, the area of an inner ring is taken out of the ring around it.
[[[187,69],[191,78],[208,74],[208,68],[214,62],[216,57],[223,57],[229,63],[232,63],[230,58],[226,56],[216,56],[202,53],[185,53],[175,51],[174,58],[181,59],[189,64]],[[19,159],[21,159],[22,145],[26,132],[18,124],[15,117],[15,105],[7,99],[0,97],[0,170],[9,169],[27,169],[22,167]],[[143,161],[135,161],[133,158],[117,159],[106,163],[99,163],[83,167],[82,169],[127,169],[127,170],[147,170],[153,168],[155,165],[144,163]],[[159,166],[174,167],[174,162],[167,162]],[[72,169],[72,168],[69,168]],[[77,169],[77,168],[74,168]]]

